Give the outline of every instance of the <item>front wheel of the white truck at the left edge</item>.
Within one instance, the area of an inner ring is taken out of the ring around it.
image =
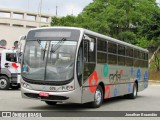
[[[0,77],[0,90],[8,90],[10,87],[10,82],[6,76]]]

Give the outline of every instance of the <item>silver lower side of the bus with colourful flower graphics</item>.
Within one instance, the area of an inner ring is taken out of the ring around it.
[[[83,84],[84,86],[83,97],[82,97],[83,101],[89,101],[88,96],[90,96],[92,100],[94,99],[93,96],[94,96],[96,87],[100,82],[104,83],[104,87],[105,87],[104,98],[107,98],[107,96],[116,97],[116,96],[132,93],[133,84],[137,80],[136,77],[137,77],[137,71],[139,70],[139,68],[107,65],[108,68],[106,71],[107,72],[106,73],[107,75],[106,75],[105,68],[104,68],[105,65],[107,64],[104,64],[104,65],[97,64],[95,69],[96,74],[92,73],[92,75],[89,76],[89,78]],[[132,68],[133,68],[133,73],[131,73]],[[137,80],[138,91],[142,91],[148,86],[148,82],[144,78],[146,72],[148,72],[148,69],[145,69],[145,68],[141,69],[141,75],[140,75],[141,79]]]

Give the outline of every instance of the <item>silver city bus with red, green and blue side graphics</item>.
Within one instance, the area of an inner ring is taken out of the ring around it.
[[[148,50],[82,28],[32,29],[21,72],[23,98],[99,107],[148,87]]]

